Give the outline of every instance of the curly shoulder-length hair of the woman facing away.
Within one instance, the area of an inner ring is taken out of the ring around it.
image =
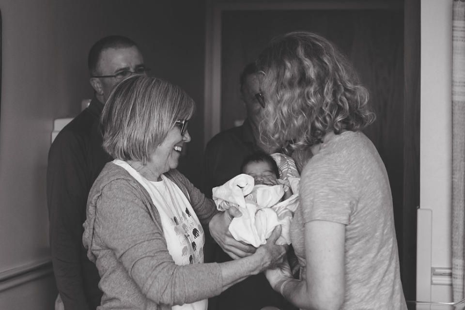
[[[347,59],[325,38],[295,31],[273,39],[257,59],[265,99],[263,142],[307,149],[329,131],[371,124],[368,91]]]

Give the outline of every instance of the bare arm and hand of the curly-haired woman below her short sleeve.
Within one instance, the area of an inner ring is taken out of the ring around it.
[[[345,225],[313,220],[305,224],[306,279],[267,273],[272,287],[301,309],[336,310],[344,301]]]

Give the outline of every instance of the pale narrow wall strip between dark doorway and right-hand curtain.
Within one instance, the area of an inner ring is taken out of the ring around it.
[[[451,268],[452,0],[421,0],[420,209],[431,210],[431,253],[417,261]],[[418,236],[419,241],[421,236]],[[428,256],[428,257],[426,257]],[[419,263],[418,263],[419,264]],[[431,279],[431,269],[429,279]],[[427,279],[427,280],[429,280]],[[433,301],[451,301],[450,285],[431,285]]]

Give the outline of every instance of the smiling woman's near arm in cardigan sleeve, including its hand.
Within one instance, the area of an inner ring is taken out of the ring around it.
[[[157,304],[179,305],[212,297],[278,263],[285,254],[284,247],[274,244],[275,239],[244,260],[176,265],[168,252],[161,222],[152,220],[140,194],[127,185],[124,180],[111,182],[99,195],[92,249],[95,255],[111,250],[112,254],[106,255],[114,255],[141,292]]]

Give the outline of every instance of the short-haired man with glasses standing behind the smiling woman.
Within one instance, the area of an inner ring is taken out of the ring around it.
[[[112,35],[96,42],[88,58],[94,97],[88,108],[67,124],[48,153],[47,203],[53,271],[66,310],[94,310],[102,297],[95,264],[82,245],[82,224],[94,180],[112,158],[102,148],[99,117],[112,89],[132,74],[148,69],[139,47]]]

